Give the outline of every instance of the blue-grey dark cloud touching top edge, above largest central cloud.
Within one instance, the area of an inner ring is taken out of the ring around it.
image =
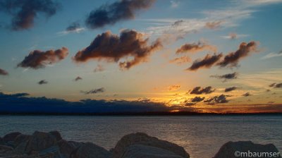
[[[155,0],[121,0],[114,4],[106,4],[91,11],[85,23],[88,28],[102,28],[105,25],[114,25],[121,20],[135,18],[135,12],[149,8]]]

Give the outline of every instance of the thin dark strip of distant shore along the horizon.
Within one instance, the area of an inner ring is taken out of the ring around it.
[[[199,112],[113,112],[113,113],[39,113],[0,112],[0,116],[282,116],[277,113],[199,113]]]

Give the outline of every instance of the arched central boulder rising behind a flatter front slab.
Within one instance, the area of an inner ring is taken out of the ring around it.
[[[159,140],[158,138],[151,137],[145,133],[131,133],[129,135],[123,136],[121,140],[118,141],[116,147],[113,150],[114,158],[121,158],[126,152],[127,147],[130,145],[147,145],[150,147],[159,147],[169,152],[173,152],[183,158],[189,158],[189,154],[185,152],[183,147],[176,145],[172,142],[166,140]]]

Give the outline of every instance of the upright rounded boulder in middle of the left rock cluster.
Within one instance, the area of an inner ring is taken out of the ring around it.
[[[47,148],[56,145],[57,140],[54,135],[51,135],[51,133],[35,131],[27,142],[25,152],[30,153],[32,151],[46,150]]]

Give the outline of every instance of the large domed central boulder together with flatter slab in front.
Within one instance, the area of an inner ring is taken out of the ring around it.
[[[121,140],[119,140],[116,144],[116,147],[114,148],[113,152],[114,158],[157,158],[165,157],[165,155],[168,153],[168,155],[171,155],[171,157],[190,157],[189,154],[185,152],[183,147],[180,147],[172,142],[159,140],[158,138],[151,137],[145,133],[132,133],[123,136],[123,138],[121,138]]]

